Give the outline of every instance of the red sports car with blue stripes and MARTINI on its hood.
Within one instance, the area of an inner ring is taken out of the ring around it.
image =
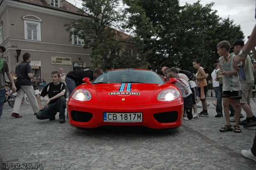
[[[109,70],[92,83],[76,87],[68,102],[69,123],[75,127],[102,125],[146,126],[154,129],[179,127],[183,99],[176,79],[164,83],[153,71]]]

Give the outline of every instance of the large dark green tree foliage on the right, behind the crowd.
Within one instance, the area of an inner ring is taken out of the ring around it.
[[[177,66],[194,71],[192,61],[201,59],[206,72],[213,71],[218,59],[216,45],[222,40],[232,44],[244,39],[240,26],[229,18],[222,19],[200,1],[179,5],[179,0],[124,0],[130,13],[127,28],[143,44],[150,68],[157,73],[162,66]]]

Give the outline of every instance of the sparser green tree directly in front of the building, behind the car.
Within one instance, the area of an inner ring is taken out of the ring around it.
[[[85,49],[91,49],[91,57],[95,67],[103,70],[119,67],[139,67],[145,61],[143,55],[132,56],[123,51],[123,43],[134,43],[133,37],[122,33],[127,12],[120,0],[82,0],[82,14],[88,17],[78,23],[65,24],[66,31],[83,39]],[[144,57],[145,58],[145,57]],[[132,60],[130,63],[124,59]]]

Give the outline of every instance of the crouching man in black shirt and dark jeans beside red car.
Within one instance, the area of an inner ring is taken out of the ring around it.
[[[47,84],[43,88],[43,90],[37,95],[37,101],[40,111],[36,114],[36,118],[40,120],[55,120],[55,115],[57,114],[57,112],[59,112],[59,123],[65,123],[65,84],[59,82],[60,73],[58,71],[53,71],[51,75],[52,83]],[[42,106],[40,97],[45,97],[47,94],[49,100],[47,100],[45,106]]]

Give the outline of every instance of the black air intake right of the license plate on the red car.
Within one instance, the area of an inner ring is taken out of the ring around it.
[[[168,111],[163,113],[155,113],[154,118],[160,123],[170,123],[177,121],[178,112],[177,111]]]

